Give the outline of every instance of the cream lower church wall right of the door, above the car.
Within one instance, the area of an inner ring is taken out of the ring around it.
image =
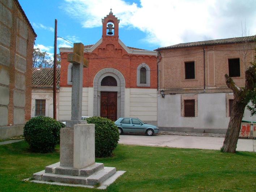
[[[143,121],[157,120],[157,89],[131,88],[126,93],[130,93],[131,117],[137,117]]]

